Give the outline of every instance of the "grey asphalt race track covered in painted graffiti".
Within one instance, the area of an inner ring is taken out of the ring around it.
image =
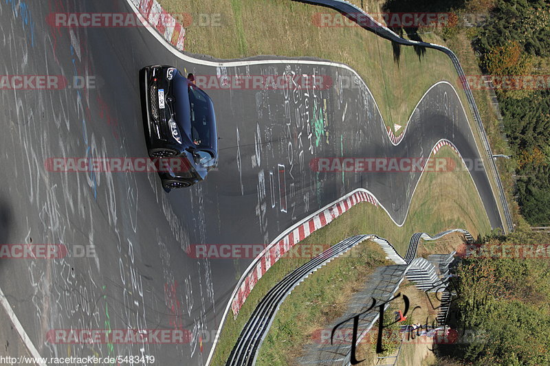
[[[354,78],[346,68],[292,60],[203,66],[174,56],[145,27],[53,28],[46,22],[51,12],[132,10],[124,0],[0,1],[2,74],[96,82],[89,89],[0,92],[0,243],[79,245],[96,253],[0,260],[1,292],[43,357],[154,355],[157,365],[203,365],[212,346],[206,334],[219,327],[252,259],[197,260],[186,254],[190,245],[269,243],[357,187],[404,222],[420,172],[318,173],[309,167],[313,158],[428,157],[440,139],[465,159],[479,158],[450,84],[426,93],[393,146],[375,101],[355,78],[351,87],[328,89],[207,89],[221,137],[219,169],[188,189],[165,192],[155,173],[48,172],[52,157],[146,157],[137,84],[145,65],[195,76],[330,76],[336,85]],[[502,227],[486,173],[472,178],[492,227]],[[190,331],[189,343],[47,339],[51,330],[175,327]]]

